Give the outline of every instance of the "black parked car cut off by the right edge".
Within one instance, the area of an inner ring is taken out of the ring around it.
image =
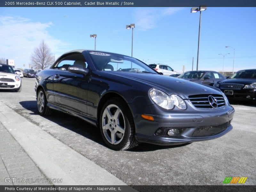
[[[228,99],[256,101],[256,69],[237,71],[224,81],[214,84]]]

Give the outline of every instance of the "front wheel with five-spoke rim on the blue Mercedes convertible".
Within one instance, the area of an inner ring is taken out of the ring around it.
[[[116,118],[117,112],[119,115],[117,114]],[[109,113],[111,113],[111,117],[108,117]],[[126,150],[138,145],[134,136],[135,126],[132,113],[128,105],[124,104],[120,98],[109,99],[104,104],[100,112],[99,127],[104,142],[111,149]],[[124,133],[118,130],[122,130]],[[112,134],[115,136],[113,137]]]

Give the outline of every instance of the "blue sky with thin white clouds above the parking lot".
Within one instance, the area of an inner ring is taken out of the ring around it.
[[[202,12],[200,70],[235,71],[256,68],[256,8],[208,7]],[[0,58],[28,68],[31,53],[44,39],[56,58],[74,49],[96,49],[163,63],[181,72],[196,68],[199,12],[183,8],[3,8],[0,7]]]

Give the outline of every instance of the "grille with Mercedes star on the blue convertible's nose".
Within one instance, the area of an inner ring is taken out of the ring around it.
[[[224,97],[217,94],[190,95],[188,99],[196,108],[201,109],[223,108],[226,106]]]

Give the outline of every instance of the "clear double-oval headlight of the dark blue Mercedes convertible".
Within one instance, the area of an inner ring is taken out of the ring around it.
[[[185,101],[175,94],[169,96],[160,90],[152,89],[149,91],[149,96],[157,105],[164,109],[173,109],[174,106],[180,109],[187,108]]]

